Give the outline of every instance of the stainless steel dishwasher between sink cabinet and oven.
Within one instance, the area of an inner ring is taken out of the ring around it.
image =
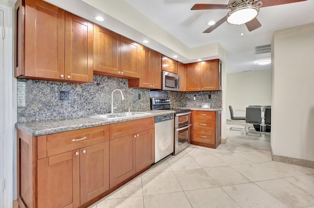
[[[174,120],[173,114],[155,117],[155,162],[173,153]]]

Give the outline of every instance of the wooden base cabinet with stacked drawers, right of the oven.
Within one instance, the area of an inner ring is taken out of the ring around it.
[[[218,147],[221,143],[221,110],[192,111],[191,143]]]

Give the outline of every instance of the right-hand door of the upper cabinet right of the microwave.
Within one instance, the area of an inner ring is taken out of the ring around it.
[[[219,90],[219,59],[203,61],[202,69],[202,90]]]

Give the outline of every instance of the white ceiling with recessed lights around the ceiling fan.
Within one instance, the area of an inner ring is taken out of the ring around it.
[[[262,27],[249,32],[241,26],[223,23],[211,33],[202,33],[206,22],[218,21],[228,10],[194,10],[195,3],[227,4],[228,0],[46,0],[78,16],[100,24],[119,34],[183,63],[217,58],[208,48],[219,44],[226,51],[227,72],[270,70],[256,61],[270,58],[270,53],[254,55],[255,46],[271,43],[276,30],[314,22],[314,0],[260,8]],[[97,9],[96,9],[97,8]],[[93,17],[102,15],[104,22]]]

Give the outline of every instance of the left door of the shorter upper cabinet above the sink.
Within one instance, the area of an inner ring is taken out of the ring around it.
[[[94,71],[117,74],[120,71],[120,35],[94,25]]]

